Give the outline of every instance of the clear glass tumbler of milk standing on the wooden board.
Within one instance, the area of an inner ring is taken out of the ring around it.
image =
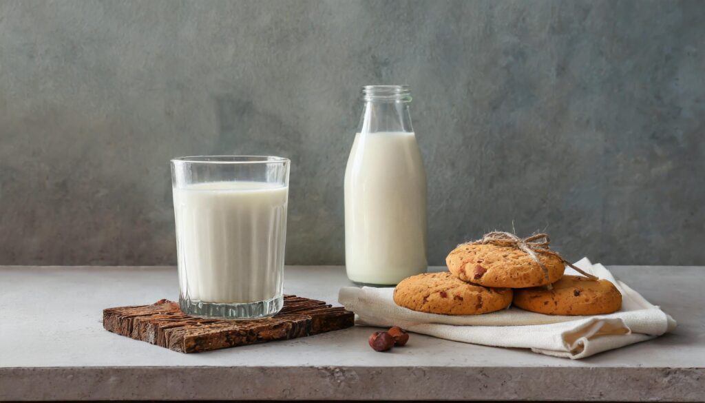
[[[184,313],[250,319],[281,310],[289,165],[281,157],[171,160]]]

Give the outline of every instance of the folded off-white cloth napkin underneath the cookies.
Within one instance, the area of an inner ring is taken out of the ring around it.
[[[374,287],[344,287],[338,301],[355,312],[357,325],[399,326],[456,342],[526,348],[570,359],[643,342],[675,329],[670,315],[615,279],[603,265],[593,265],[587,258],[575,265],[617,286],[622,293],[620,311],[609,315],[552,316],[510,307],[484,315],[437,315],[397,306],[392,299],[393,288]],[[578,273],[566,267],[565,274]]]

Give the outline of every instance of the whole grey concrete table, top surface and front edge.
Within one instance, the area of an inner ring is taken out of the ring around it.
[[[380,354],[371,328],[201,354],[114,335],[102,309],[178,298],[175,267],[0,267],[0,400],[705,399],[705,267],[616,266],[678,320],[580,361],[412,335]],[[288,266],[285,291],[330,303],[343,267]]]

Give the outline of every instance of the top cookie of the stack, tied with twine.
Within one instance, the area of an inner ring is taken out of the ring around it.
[[[536,253],[548,271],[518,248],[491,244],[465,244],[446,258],[448,270],[462,281],[485,287],[527,288],[556,282],[565,266],[556,255]]]

